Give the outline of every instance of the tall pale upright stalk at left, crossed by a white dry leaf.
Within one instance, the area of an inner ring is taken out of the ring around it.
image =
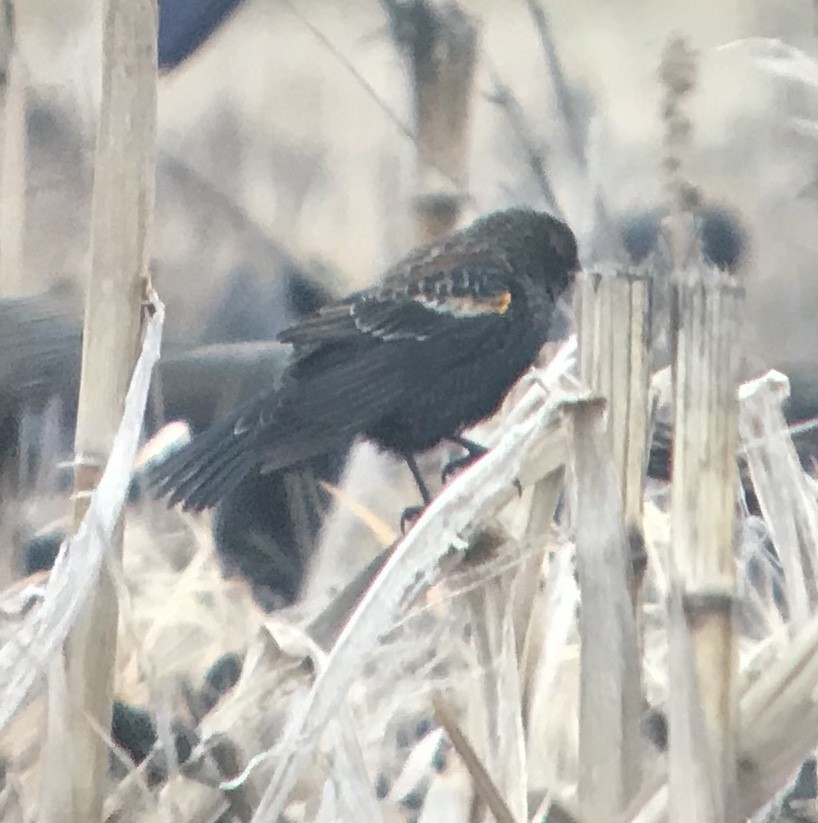
[[[75,524],[85,514],[116,434],[140,340],[154,201],[156,25],[156,0],[105,2],[92,264],[75,438]],[[110,547],[114,558],[121,557],[121,524],[118,532]],[[93,725],[110,728],[117,619],[114,582],[103,567],[96,597],[65,645],[66,701],[49,702],[49,715],[64,725],[71,745],[70,758],[62,752],[65,791],[51,792],[48,782],[43,787],[41,819],[49,823],[101,819],[108,751]],[[47,747],[54,762],[59,742],[49,738]]]

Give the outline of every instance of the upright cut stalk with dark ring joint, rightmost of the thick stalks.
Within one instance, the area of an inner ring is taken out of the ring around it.
[[[736,817],[737,396],[743,292],[703,265],[673,284],[670,820]]]

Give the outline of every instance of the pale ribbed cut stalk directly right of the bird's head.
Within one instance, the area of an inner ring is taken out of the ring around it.
[[[577,338],[582,384],[608,401],[607,429],[634,574],[639,611],[646,555],[642,527],[650,390],[651,280],[641,274],[578,278]]]

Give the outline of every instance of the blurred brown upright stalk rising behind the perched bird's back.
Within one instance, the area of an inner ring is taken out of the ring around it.
[[[412,73],[417,140],[415,237],[455,228],[468,190],[477,26],[456,4],[385,4]]]

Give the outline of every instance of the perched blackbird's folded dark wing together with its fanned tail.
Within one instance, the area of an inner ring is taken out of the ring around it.
[[[279,338],[295,346],[282,384],[166,461],[159,494],[206,508],[254,465],[282,470],[349,443],[500,340],[511,294],[502,261],[465,264],[386,281],[302,321]]]

